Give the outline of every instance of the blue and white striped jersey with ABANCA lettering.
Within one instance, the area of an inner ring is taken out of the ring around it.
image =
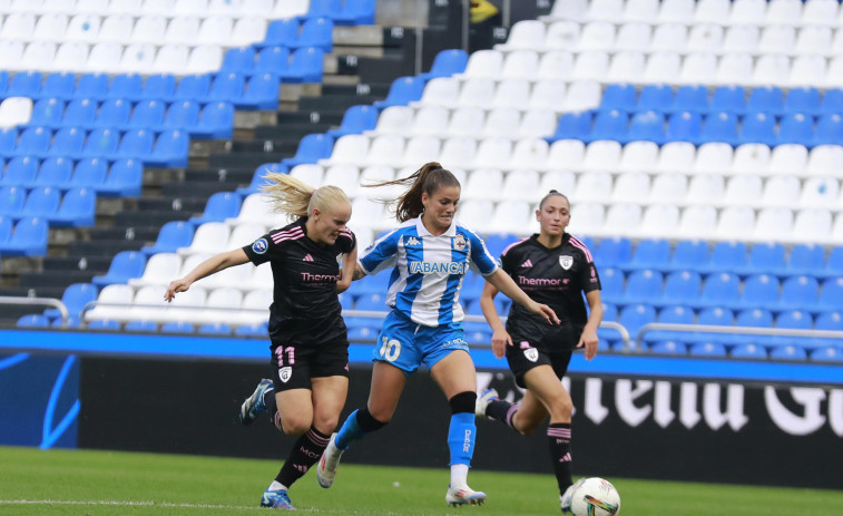
[[[359,261],[366,274],[394,267],[386,304],[425,327],[462,321],[460,286],[469,269],[484,276],[498,270],[474,232],[454,221],[442,235],[433,236],[421,217],[378,238]]]

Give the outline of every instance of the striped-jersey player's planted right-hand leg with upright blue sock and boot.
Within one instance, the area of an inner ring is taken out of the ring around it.
[[[430,373],[451,405],[451,423],[448,429],[451,483],[445,493],[445,503],[450,505],[482,504],[486,502],[486,493],[476,491],[468,486],[468,474],[477,440],[474,362],[468,351],[452,350],[430,366]]]

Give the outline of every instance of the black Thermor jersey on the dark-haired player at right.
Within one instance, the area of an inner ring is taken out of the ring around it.
[[[527,295],[553,309],[561,321],[549,325],[541,318],[512,303],[507,331],[513,339],[560,342],[563,348],[577,345],[588,321],[582,292],[600,289],[591,253],[576,236],[562,235],[558,247],[545,247],[538,234],[517,242],[501,254],[501,266]],[[517,342],[516,342],[517,344]]]

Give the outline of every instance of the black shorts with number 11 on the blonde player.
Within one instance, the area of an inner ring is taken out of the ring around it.
[[[316,339],[308,331],[288,331],[273,337],[269,367],[275,392],[310,389],[311,378],[349,377],[345,324],[342,331],[320,333]]]

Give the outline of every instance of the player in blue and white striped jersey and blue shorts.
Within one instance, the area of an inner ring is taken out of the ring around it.
[[[546,323],[558,320],[552,310],[532,301],[500,271],[480,237],[454,221],[460,183],[453,174],[438,163],[428,163],[406,178],[373,186],[408,184],[409,189],[396,199],[396,217],[402,224],[366,249],[355,271],[359,279],[392,267],[386,294],[391,311],[373,351],[369,402],[332,436],[316,477],[322,487],[331,487],[342,452],[392,419],[408,376],[425,364],[452,412],[448,435],[451,484],[445,502],[482,504],[486,494],[468,486],[477,378],[458,301],[463,276],[472,269]]]

